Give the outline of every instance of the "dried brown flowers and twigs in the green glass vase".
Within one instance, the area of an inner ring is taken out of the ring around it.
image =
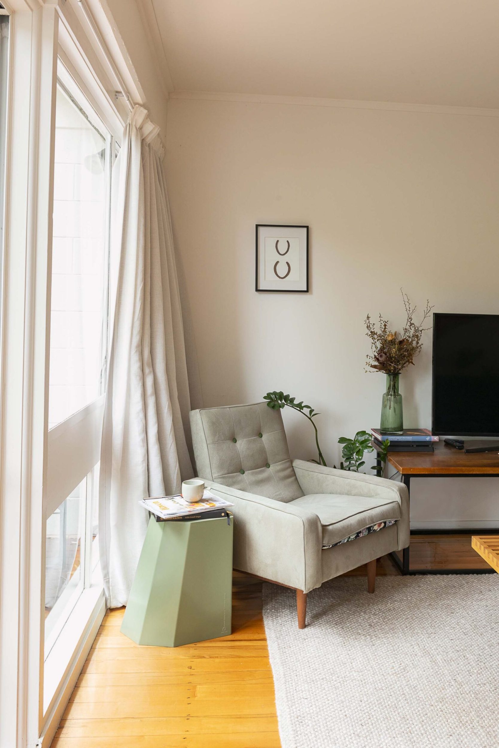
[[[388,327],[388,320],[379,315],[379,329],[371,321],[369,314],[365,325],[367,337],[371,341],[372,354],[367,356],[366,366],[385,374],[399,374],[409,364],[414,364],[414,358],[420,353],[422,346],[421,336],[428,327],[423,327],[432,311],[429,301],[423,312],[423,319],[419,325],[414,322],[414,313],[417,307],[411,307],[408,295],[400,289],[405,307],[407,319],[402,333],[393,332]]]

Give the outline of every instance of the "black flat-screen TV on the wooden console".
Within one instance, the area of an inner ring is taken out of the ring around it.
[[[434,314],[432,432],[499,436],[499,315]]]

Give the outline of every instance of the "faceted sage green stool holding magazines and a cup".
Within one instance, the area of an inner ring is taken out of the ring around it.
[[[121,633],[137,644],[177,647],[230,634],[232,532],[227,517],[150,518]]]

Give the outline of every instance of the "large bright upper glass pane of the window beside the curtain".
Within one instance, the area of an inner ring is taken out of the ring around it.
[[[107,144],[58,85],[55,111],[49,428],[102,393]]]

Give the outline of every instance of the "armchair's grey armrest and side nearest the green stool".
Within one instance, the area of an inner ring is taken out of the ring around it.
[[[206,481],[234,504],[233,566],[304,592],[322,584],[322,526],[314,512]]]

